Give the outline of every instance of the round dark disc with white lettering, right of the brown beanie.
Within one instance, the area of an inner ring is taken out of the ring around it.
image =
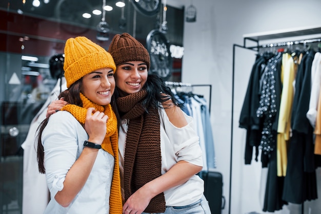
[[[151,61],[149,71],[158,74],[163,80],[168,80],[172,74],[169,41],[165,34],[158,30],[152,30],[146,40]]]

